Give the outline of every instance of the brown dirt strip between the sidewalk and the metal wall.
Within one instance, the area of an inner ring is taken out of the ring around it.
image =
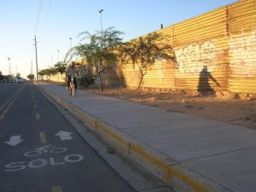
[[[143,103],[170,112],[187,113],[256,130],[255,96],[239,96],[230,93],[201,96],[197,92],[129,90],[126,88],[105,89],[103,91],[96,88],[83,90]]]

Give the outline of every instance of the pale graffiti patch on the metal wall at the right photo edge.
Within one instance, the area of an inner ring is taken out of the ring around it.
[[[233,74],[256,75],[256,29],[230,35],[230,69]]]

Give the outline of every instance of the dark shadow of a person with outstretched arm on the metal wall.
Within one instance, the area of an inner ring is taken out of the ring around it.
[[[215,90],[209,83],[210,80],[212,80],[218,87],[220,87],[220,84],[218,84],[217,80],[212,77],[210,72],[208,72],[207,66],[204,66],[200,72],[199,83],[197,86],[197,90],[201,93],[201,95],[215,95]]]

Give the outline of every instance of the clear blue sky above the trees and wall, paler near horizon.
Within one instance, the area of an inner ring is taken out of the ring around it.
[[[0,1],[0,71],[26,77],[33,64],[38,40],[38,68],[62,61],[79,32],[114,26],[125,32],[124,41],[217,9],[235,0],[3,0]],[[40,9],[39,9],[40,8]],[[72,38],[70,41],[69,38]],[[57,51],[59,50],[59,52]],[[59,53],[59,54],[58,54]],[[10,61],[8,61],[8,57]]]

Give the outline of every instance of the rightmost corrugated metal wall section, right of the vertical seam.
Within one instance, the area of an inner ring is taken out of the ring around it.
[[[228,12],[229,90],[256,94],[256,1],[232,4]]]

